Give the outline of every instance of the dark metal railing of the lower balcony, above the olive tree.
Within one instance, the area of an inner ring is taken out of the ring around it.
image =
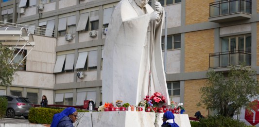
[[[209,68],[241,64],[244,64],[244,66],[251,66],[251,52],[237,50],[209,54]]]

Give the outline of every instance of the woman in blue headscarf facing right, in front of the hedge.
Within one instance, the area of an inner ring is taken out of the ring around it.
[[[51,127],[74,127],[73,123],[77,120],[77,111],[73,107],[64,109],[60,113],[54,114]]]

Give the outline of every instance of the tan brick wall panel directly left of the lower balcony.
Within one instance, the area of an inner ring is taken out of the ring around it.
[[[202,30],[185,34],[185,72],[208,69],[208,55],[214,53],[214,30]]]

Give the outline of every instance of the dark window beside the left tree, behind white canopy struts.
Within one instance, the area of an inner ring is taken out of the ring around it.
[[[23,59],[26,54],[27,51],[26,50],[21,50],[20,49],[16,49],[13,56],[14,56],[14,60],[13,63],[18,65],[18,70],[23,70],[26,71],[26,58]]]

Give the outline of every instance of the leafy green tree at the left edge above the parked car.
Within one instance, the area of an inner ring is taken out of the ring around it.
[[[0,43],[0,86],[12,85],[13,75],[17,71],[16,65],[9,63],[10,59],[13,58],[12,54],[13,50]]]

